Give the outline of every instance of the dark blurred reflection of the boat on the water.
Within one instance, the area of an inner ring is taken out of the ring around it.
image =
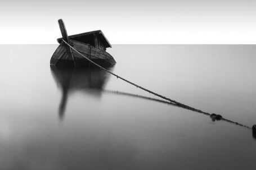
[[[113,67],[107,68],[113,70]],[[109,74],[96,67],[56,67],[51,66],[52,75],[58,88],[62,90],[62,97],[59,106],[59,118],[62,120],[65,114],[66,103],[70,93],[81,90],[87,94],[101,97],[102,89],[109,79]],[[90,90],[94,89],[93,93]]]

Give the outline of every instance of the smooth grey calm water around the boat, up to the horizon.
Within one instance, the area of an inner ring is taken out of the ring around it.
[[[57,45],[0,45],[0,169],[254,169],[249,129],[154,100],[98,70],[50,68]],[[256,45],[113,45],[112,71],[256,124]],[[119,91],[120,93],[115,93]]]

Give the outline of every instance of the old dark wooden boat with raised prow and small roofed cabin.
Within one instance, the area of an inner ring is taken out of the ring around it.
[[[51,65],[71,67],[93,66],[92,63],[75,52],[66,43],[102,67],[115,65],[115,59],[106,52],[106,48],[111,47],[111,44],[101,30],[68,36],[64,22],[61,19],[58,22],[62,38],[57,39],[60,45],[52,55]]]

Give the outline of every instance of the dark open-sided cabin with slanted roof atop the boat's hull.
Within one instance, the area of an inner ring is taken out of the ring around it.
[[[101,30],[91,31],[87,33],[71,35],[69,39],[77,40],[78,42],[82,42],[85,44],[90,44],[93,47],[106,50],[106,48],[111,47],[111,44],[106,39],[105,35]],[[57,39],[59,43],[61,43],[62,38]]]

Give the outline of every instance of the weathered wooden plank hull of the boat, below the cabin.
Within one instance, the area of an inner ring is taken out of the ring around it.
[[[110,67],[115,65],[115,59],[107,53],[105,50],[98,49],[89,44],[84,44],[76,40],[70,39],[70,45],[77,49],[87,58],[91,59],[93,62],[96,62],[98,65],[103,67]],[[68,45],[64,42],[61,42],[59,47],[55,50],[51,58],[51,65],[55,66],[75,66],[75,67],[93,67],[94,65],[86,58],[75,52],[71,49],[74,57],[74,61],[70,59],[68,53]]]

